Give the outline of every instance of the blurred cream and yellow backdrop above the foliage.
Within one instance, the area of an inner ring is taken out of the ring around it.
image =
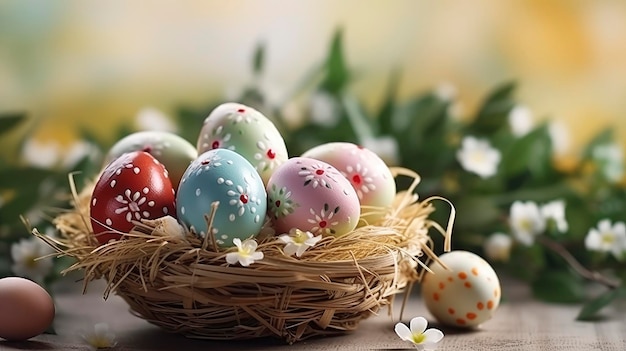
[[[268,89],[293,86],[344,29],[376,107],[390,72],[401,97],[442,82],[466,111],[519,81],[536,119],[566,122],[575,144],[615,125],[626,136],[626,2],[601,1],[2,1],[0,111],[26,110],[37,137],[75,126],[106,133],[151,106],[227,99],[266,43]]]

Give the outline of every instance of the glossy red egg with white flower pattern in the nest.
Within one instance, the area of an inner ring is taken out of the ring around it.
[[[144,151],[125,153],[104,168],[93,189],[91,226],[104,244],[130,231],[134,221],[174,214],[174,202],[163,164]]]

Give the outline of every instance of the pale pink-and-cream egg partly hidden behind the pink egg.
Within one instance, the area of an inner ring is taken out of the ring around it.
[[[391,171],[374,152],[352,143],[333,142],[318,145],[302,157],[327,162],[350,181],[359,197],[363,224],[374,223],[385,214],[396,195]]]

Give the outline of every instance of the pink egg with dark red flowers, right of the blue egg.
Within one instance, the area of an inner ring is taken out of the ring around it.
[[[361,213],[350,182],[335,167],[312,158],[294,157],[279,166],[267,194],[277,233],[297,228],[340,236],[354,230]]]

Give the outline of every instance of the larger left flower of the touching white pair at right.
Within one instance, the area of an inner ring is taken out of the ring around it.
[[[515,201],[511,206],[509,221],[515,239],[526,246],[532,245],[535,236],[546,228],[539,206],[532,201]]]

